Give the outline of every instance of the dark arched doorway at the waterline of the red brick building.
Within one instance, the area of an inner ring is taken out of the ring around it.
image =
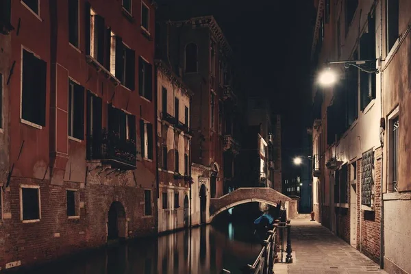
[[[107,240],[126,238],[127,221],[125,219],[125,210],[119,201],[114,201],[110,206],[110,210],[108,210],[107,227]]]

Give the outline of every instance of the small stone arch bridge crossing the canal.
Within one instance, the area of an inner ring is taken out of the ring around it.
[[[277,206],[279,201],[287,210],[287,218],[294,219],[298,214],[298,199],[292,199],[273,188],[237,188],[224,196],[210,199],[210,221],[221,212],[242,203],[260,202]]]

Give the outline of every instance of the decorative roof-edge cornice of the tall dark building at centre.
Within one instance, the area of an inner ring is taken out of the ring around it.
[[[188,20],[184,21],[170,21],[169,22],[171,25],[177,25],[177,26],[182,26],[182,25],[191,25],[192,28],[196,27],[208,27],[214,37],[219,41],[219,44],[223,47],[223,51],[229,56],[232,57],[233,51],[232,48],[230,47],[227,38],[225,38],[223,31],[221,30],[221,27],[219,24],[216,22],[214,16],[209,15],[209,16],[201,16],[201,17],[192,17]]]

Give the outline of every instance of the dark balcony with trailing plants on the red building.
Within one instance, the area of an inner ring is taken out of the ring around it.
[[[112,168],[136,169],[137,148],[134,140],[124,140],[119,134],[108,133],[106,129],[101,134],[87,136],[87,159],[101,160]]]

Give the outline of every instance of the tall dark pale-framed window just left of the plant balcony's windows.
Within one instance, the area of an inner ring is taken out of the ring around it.
[[[69,136],[84,140],[84,87],[69,80]]]

